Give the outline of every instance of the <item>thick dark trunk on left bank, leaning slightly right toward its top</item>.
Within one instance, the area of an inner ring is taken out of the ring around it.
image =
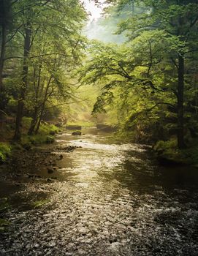
[[[23,72],[22,72],[22,83],[23,86],[20,88],[20,99],[18,100],[18,112],[16,116],[15,135],[14,140],[20,140],[21,138],[21,127],[24,109],[24,100],[26,98],[26,89],[28,87],[28,56],[31,48],[31,29],[30,23],[26,24],[25,29],[25,40],[24,40],[24,61],[23,61]]]

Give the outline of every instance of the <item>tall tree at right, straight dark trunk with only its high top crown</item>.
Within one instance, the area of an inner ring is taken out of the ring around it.
[[[137,1],[136,1],[137,2]],[[178,148],[185,146],[184,142],[184,91],[185,91],[185,61],[189,52],[197,50],[194,41],[197,40],[198,4],[197,1],[139,1],[147,7],[142,15],[132,15],[132,18],[121,24],[121,31],[130,31],[137,35],[148,29],[161,29],[175,41],[170,59],[178,70],[178,87],[175,90],[178,110]],[[137,3],[138,4],[138,3]],[[134,23],[132,29],[130,25]]]

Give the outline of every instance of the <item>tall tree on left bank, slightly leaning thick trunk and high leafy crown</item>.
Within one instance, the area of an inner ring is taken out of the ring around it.
[[[53,56],[62,55],[67,63],[70,62],[69,59],[76,62],[79,59],[78,51],[83,45],[80,30],[82,21],[85,20],[85,12],[78,1],[40,0],[32,3],[32,1],[24,0],[15,5],[15,13],[18,15],[18,22],[23,24],[18,31],[24,38],[23,56],[10,56],[8,59],[23,59],[14,136],[15,140],[20,140],[26,91],[30,83],[28,76],[31,59],[39,58],[39,56],[53,58]],[[49,20],[49,16],[53,17],[53,20]],[[49,40],[53,49],[46,48],[44,53],[37,55],[37,51],[34,50],[34,45],[39,41],[37,38]]]

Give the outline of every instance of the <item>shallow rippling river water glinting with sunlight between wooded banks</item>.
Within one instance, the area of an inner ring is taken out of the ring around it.
[[[198,255],[198,170],[161,167],[146,146],[83,132],[58,135],[1,175],[10,225],[0,255]]]

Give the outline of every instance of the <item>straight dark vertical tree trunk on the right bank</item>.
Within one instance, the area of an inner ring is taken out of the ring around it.
[[[178,56],[178,148],[184,148],[183,127],[184,59]]]

